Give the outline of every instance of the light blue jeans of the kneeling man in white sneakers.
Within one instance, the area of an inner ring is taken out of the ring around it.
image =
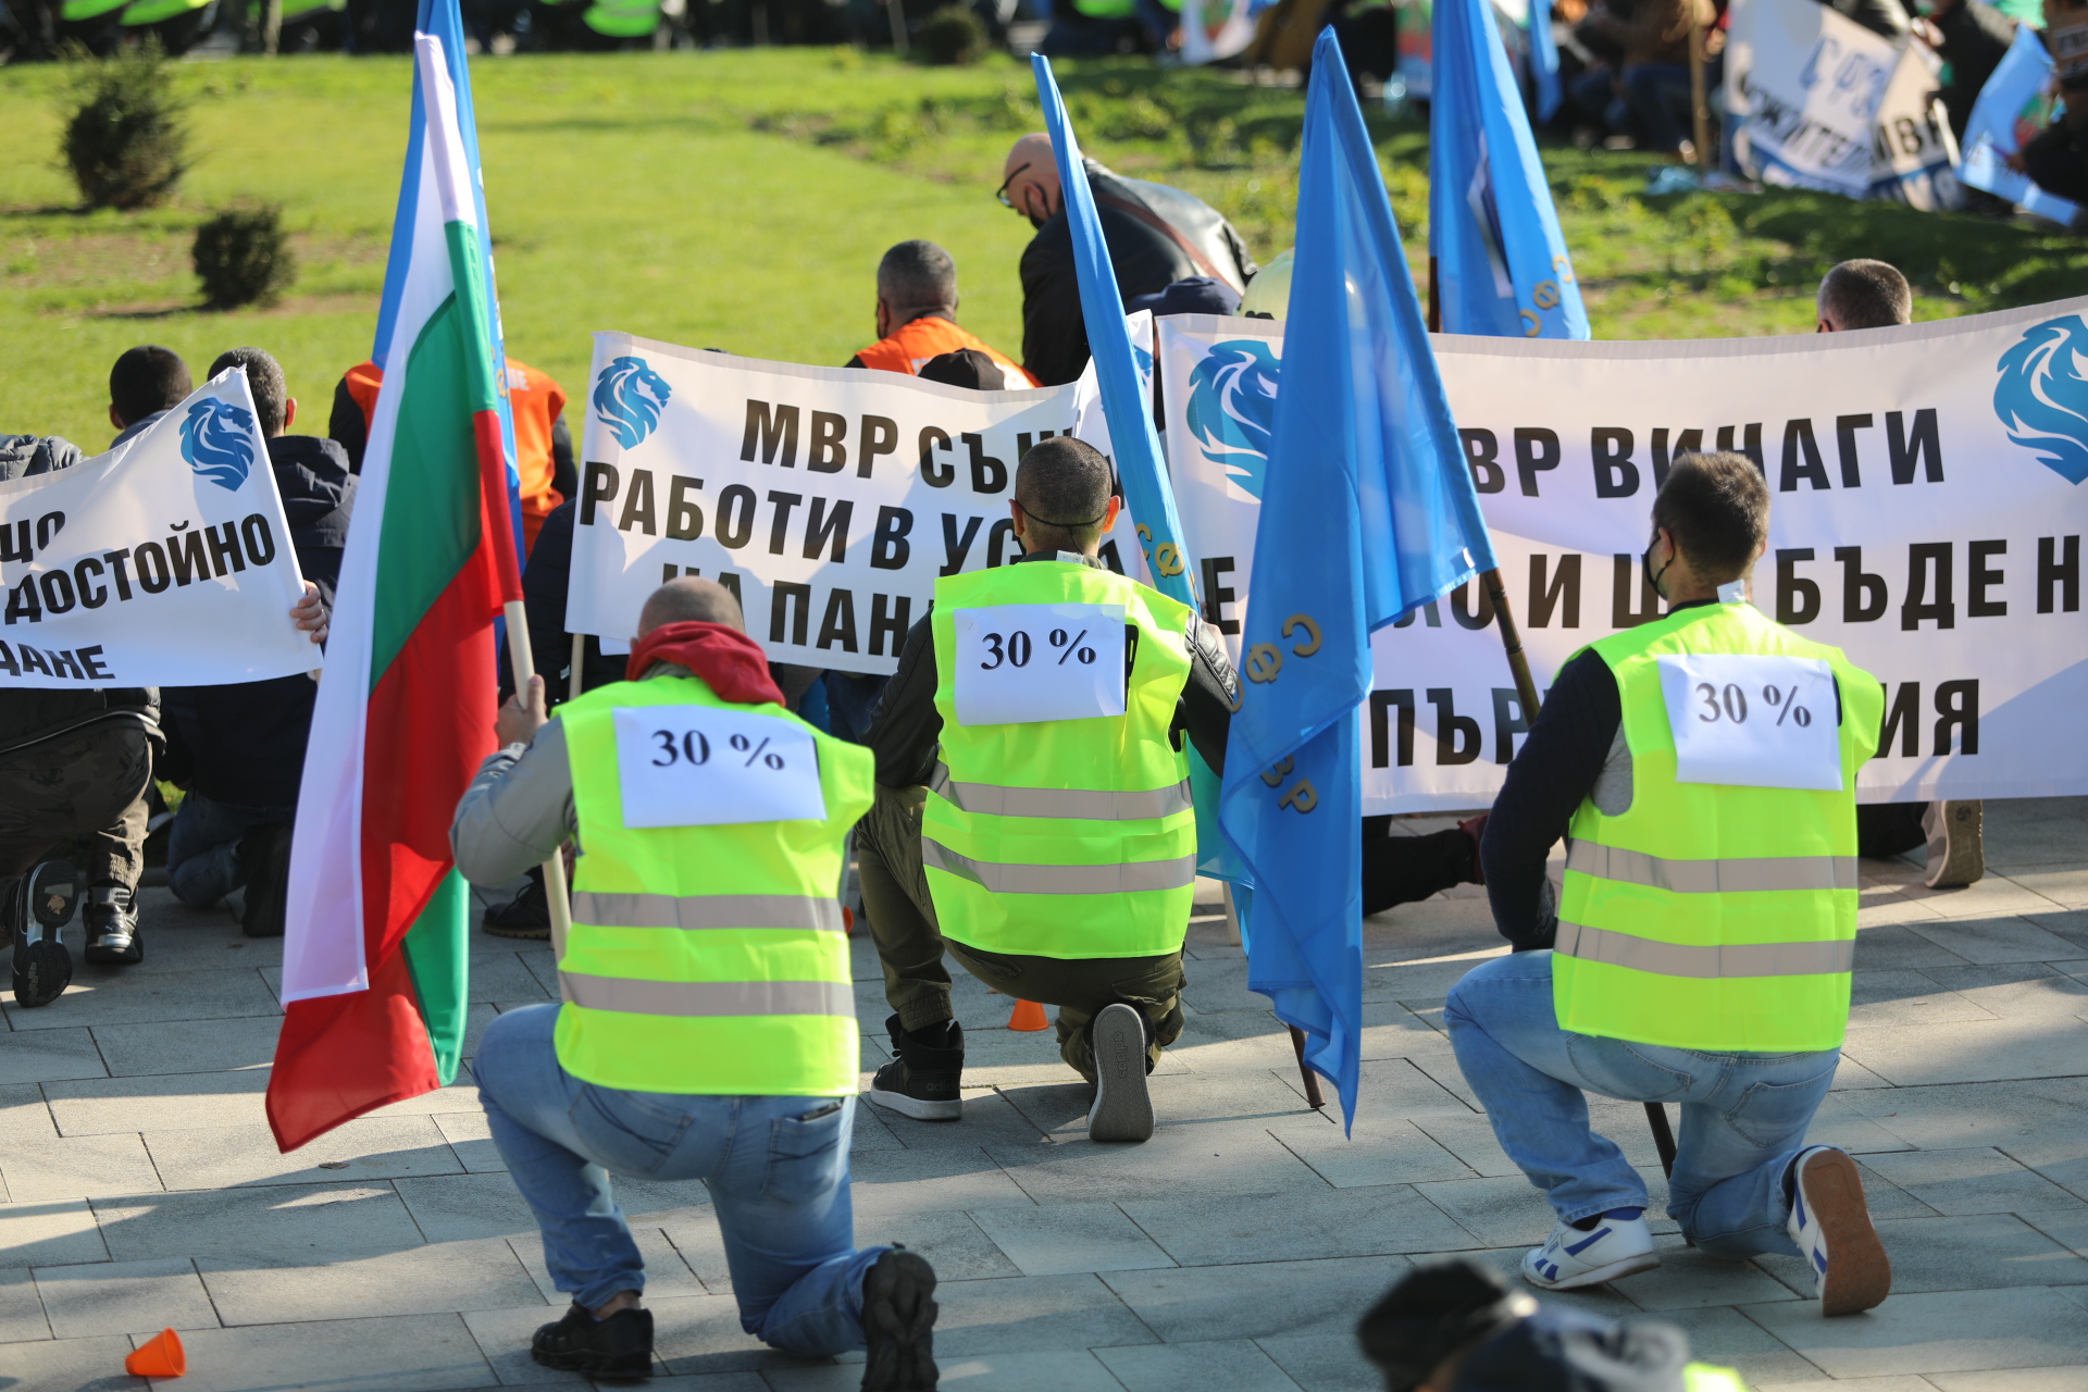
[[[1681,1102],[1668,1217],[1712,1256],[1798,1254],[1783,1229],[1783,1173],[1833,1085],[1840,1050],[1710,1054],[1574,1035],[1551,1008],[1551,954],[1495,958],[1451,987],[1443,1010],[1464,1081],[1501,1150],[1560,1219],[1643,1208],[1645,1181],[1587,1125],[1581,1089]]]

